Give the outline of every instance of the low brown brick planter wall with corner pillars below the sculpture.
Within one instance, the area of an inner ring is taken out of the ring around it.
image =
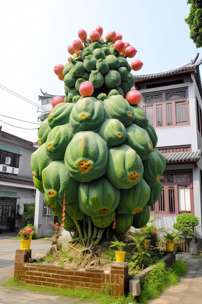
[[[20,282],[62,288],[76,286],[100,291],[109,286],[110,295],[124,295],[127,290],[129,276],[128,263],[112,262],[110,270],[82,270],[57,265],[32,264],[31,250],[16,250],[14,276]]]

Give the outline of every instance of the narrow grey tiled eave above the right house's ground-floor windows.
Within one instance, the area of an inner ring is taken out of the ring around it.
[[[202,155],[202,150],[199,149],[193,152],[165,153],[164,155],[167,159],[167,163],[197,162]]]

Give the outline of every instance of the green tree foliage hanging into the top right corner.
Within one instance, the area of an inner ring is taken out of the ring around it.
[[[190,12],[185,22],[189,26],[190,38],[196,48],[202,47],[202,0],[187,0],[190,4]]]

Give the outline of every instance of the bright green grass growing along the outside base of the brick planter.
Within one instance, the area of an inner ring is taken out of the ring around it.
[[[175,261],[171,267],[166,267],[164,262],[156,263],[156,266],[145,277],[140,280],[141,294],[139,297],[133,297],[128,294],[124,297],[114,298],[109,296],[109,286],[101,288],[100,292],[96,292],[89,288],[88,290],[75,287],[74,289],[58,288],[58,287],[37,287],[26,285],[11,278],[3,283],[4,287],[13,290],[26,289],[31,292],[49,293],[66,298],[77,298],[79,301],[93,302],[94,304],[148,304],[151,300],[160,296],[163,290],[171,285],[177,285],[180,276],[187,273],[187,263]]]

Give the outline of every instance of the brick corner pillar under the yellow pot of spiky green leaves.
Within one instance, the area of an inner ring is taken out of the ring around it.
[[[128,288],[128,262],[112,262],[110,268],[110,295],[124,296]]]

